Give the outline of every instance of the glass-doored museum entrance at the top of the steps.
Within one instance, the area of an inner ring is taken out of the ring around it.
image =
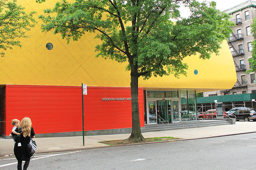
[[[145,91],[145,124],[196,120],[195,91]]]

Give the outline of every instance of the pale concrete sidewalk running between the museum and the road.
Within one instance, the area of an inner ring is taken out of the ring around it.
[[[222,125],[222,126],[210,126],[199,127],[192,129],[179,129],[169,131],[147,132],[143,133],[144,138],[151,137],[176,137],[182,139],[204,138],[219,135],[240,134],[256,132],[256,122],[244,122],[239,121],[236,124]],[[40,152],[52,152],[61,150],[72,149],[86,149],[93,147],[108,146],[101,141],[112,141],[119,139],[126,139],[130,134],[116,134],[116,135],[97,135],[97,136],[85,136],[84,146],[83,137],[55,137],[55,138],[35,138],[37,143],[37,153]],[[256,134],[255,134],[256,136]],[[212,139],[214,140],[214,139]],[[0,137],[0,156],[13,154],[14,143],[12,139],[4,139]]]

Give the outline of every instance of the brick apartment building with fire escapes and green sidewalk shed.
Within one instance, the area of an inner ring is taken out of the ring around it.
[[[204,92],[204,97],[198,98],[197,106],[212,106],[214,100],[217,100],[226,105],[225,110],[236,106],[253,107],[255,103],[252,102],[252,99],[256,97],[254,95],[256,93],[255,73],[246,74],[245,71],[250,68],[248,59],[252,58],[251,42],[255,39],[250,25],[256,16],[256,1],[245,1],[235,7],[226,9],[224,12],[229,14],[230,20],[235,23],[228,44],[234,59],[237,82],[231,89]]]

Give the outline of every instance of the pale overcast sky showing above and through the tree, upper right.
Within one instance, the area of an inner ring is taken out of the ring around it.
[[[203,0],[198,0],[198,1],[202,2]],[[224,11],[226,9],[232,8],[248,0],[206,0],[206,1],[207,2],[215,1],[216,8],[219,9],[220,11]],[[187,17],[189,15],[187,12],[187,9],[185,9],[184,7],[181,7],[180,11],[181,11],[181,16],[183,17]]]

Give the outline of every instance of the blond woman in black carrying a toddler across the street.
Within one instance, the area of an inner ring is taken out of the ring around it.
[[[16,159],[18,160],[18,170],[22,169],[22,161],[25,161],[23,166],[23,170],[26,170],[29,166],[30,156],[27,153],[27,144],[30,142],[30,137],[35,137],[35,132],[33,127],[31,126],[32,122],[29,117],[25,117],[20,122],[20,127],[16,128],[16,132],[20,133],[15,138],[14,145],[14,154]]]

